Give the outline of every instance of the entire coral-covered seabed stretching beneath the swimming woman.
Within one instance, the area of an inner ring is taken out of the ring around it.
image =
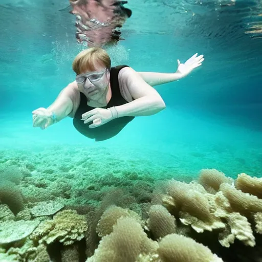
[[[116,165],[98,176],[89,158],[1,164],[1,261],[262,259],[261,178],[202,169],[187,182],[178,174],[157,181]]]

